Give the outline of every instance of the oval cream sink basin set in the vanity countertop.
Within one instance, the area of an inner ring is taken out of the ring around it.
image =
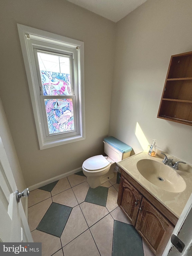
[[[151,159],[137,162],[140,174],[152,184],[169,192],[182,192],[186,188],[184,179],[171,167]]]

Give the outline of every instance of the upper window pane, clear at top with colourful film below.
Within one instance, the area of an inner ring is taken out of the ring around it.
[[[38,52],[43,95],[71,95],[70,59]]]

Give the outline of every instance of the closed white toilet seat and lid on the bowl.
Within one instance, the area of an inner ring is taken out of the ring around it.
[[[103,155],[95,155],[85,160],[82,167],[87,172],[96,173],[106,170],[110,165],[109,161]]]

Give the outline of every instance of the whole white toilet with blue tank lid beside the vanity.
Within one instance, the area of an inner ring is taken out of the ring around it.
[[[95,155],[82,164],[82,170],[91,188],[96,188],[114,177],[116,163],[128,158],[132,148],[113,136],[104,138],[104,152],[107,156]]]

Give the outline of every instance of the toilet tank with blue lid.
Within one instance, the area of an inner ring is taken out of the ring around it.
[[[104,152],[116,163],[128,158],[131,154],[132,147],[123,143],[113,136],[104,138]]]

